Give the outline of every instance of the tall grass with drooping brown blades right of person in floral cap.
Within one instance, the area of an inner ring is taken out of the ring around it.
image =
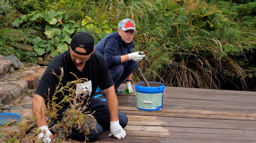
[[[118,11],[125,11],[136,22],[136,50],[144,51],[150,59],[150,64],[141,62],[139,66],[149,81],[167,86],[220,89],[220,79],[238,77],[245,85],[246,72],[235,59],[244,56],[246,62],[244,51],[251,48],[242,41],[247,36],[229,22],[218,21],[222,16],[218,10],[198,18],[190,10],[199,7],[200,14],[205,11],[199,0],[129,2]],[[134,75],[135,81],[141,81],[138,73]]]

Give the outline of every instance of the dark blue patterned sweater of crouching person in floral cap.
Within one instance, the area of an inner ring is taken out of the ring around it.
[[[110,33],[95,45],[95,51],[99,52],[107,62],[109,68],[121,64],[122,55],[133,52],[134,44],[126,44],[121,36],[116,33]],[[127,62],[124,62],[125,66]]]

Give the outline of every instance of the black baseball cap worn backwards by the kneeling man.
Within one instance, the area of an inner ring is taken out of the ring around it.
[[[70,42],[71,49],[80,55],[89,55],[94,49],[94,38],[87,32],[78,32]],[[76,51],[76,47],[86,50],[86,53]]]

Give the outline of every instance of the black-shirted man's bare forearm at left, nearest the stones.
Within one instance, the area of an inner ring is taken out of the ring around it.
[[[38,94],[35,94],[32,100],[32,110],[36,118],[37,127],[42,127],[47,125],[46,116],[45,116],[44,99]]]

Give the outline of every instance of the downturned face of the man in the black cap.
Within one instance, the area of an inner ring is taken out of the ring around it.
[[[86,53],[86,50],[81,47],[77,47],[76,51]],[[84,65],[85,62],[91,57],[92,53],[89,55],[80,55],[70,48],[70,56],[76,66]]]

